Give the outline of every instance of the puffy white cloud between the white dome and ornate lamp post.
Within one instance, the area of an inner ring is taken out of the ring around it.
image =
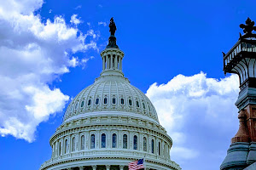
[[[166,84],[154,83],[148,88],[146,95],[173,139],[172,160],[183,169],[198,169],[199,163],[201,169],[219,168],[238,128],[234,105],[238,92],[236,75],[217,80],[203,72],[191,77],[178,75]],[[217,167],[209,167],[209,163]]]

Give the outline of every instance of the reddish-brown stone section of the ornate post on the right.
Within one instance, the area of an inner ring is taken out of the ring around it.
[[[247,105],[239,112],[238,119],[239,129],[231,143],[256,142],[256,105]]]

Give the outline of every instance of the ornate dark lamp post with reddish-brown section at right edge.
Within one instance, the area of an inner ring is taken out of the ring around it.
[[[244,35],[224,54],[224,73],[236,73],[240,93],[236,100],[239,109],[239,130],[231,139],[221,170],[240,170],[256,161],[256,31],[254,22],[247,18],[241,24]]]

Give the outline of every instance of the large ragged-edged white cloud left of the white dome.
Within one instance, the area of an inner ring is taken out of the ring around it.
[[[0,135],[32,142],[40,122],[62,111],[69,97],[49,84],[84,65],[78,51],[96,49],[96,34],[83,34],[77,15],[71,23],[62,16],[42,22],[33,12],[43,0],[0,2]],[[86,42],[89,43],[85,43]]]

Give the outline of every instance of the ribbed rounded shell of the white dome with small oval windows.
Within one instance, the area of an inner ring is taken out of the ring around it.
[[[68,105],[64,122],[73,118],[91,115],[99,111],[124,111],[148,116],[148,120],[159,123],[154,105],[138,88],[130,84],[127,78],[102,76],[87,88],[84,88]],[[88,114],[86,114],[88,113]],[[90,114],[89,114],[90,113]]]

